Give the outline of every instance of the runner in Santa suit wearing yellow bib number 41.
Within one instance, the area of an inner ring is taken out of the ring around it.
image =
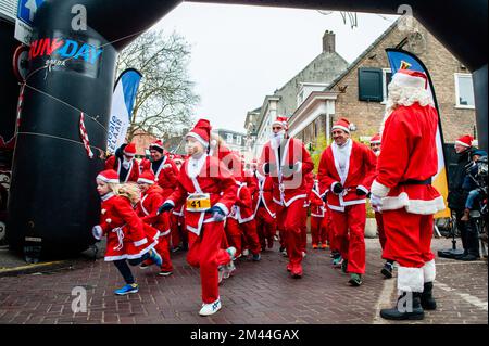
[[[185,203],[185,221],[189,230],[187,261],[200,268],[202,285],[201,316],[221,309],[218,267],[229,266],[236,248],[222,249],[224,220],[236,203],[237,184],[233,175],[214,156],[208,154],[211,137],[209,120],[200,119],[186,136],[186,150],[191,157],[178,176],[176,190],[160,207],[160,213]]]

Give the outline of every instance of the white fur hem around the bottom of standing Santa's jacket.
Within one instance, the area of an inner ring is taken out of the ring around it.
[[[397,210],[404,207],[408,213],[419,215],[432,215],[446,209],[443,196],[431,201],[410,200],[408,193],[402,192],[397,197],[383,198],[383,210]]]

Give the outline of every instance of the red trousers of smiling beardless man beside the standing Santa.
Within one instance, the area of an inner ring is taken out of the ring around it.
[[[348,272],[365,273],[365,204],[346,206],[343,213],[330,213],[335,233],[331,247],[348,259]]]

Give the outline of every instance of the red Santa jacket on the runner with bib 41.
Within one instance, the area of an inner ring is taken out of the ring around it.
[[[189,158],[184,163],[176,190],[166,202],[175,206],[185,203],[191,193],[209,193],[211,206],[217,206],[228,215],[236,203],[237,192],[238,185],[230,171],[217,157],[203,155],[199,161]],[[187,206],[184,215],[187,229],[198,235],[203,223],[215,222],[211,214],[190,212]]]

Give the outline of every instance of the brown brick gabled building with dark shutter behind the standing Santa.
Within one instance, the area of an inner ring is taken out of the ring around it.
[[[387,48],[416,54],[428,68],[440,108],[446,142],[462,133],[476,134],[472,75],[429,31],[413,20],[391,25],[328,88],[312,92],[290,118],[290,132],[304,143],[317,144],[331,124],[347,117],[356,125],[355,137],[366,140],[378,131],[384,117],[391,72]],[[401,23],[401,24],[400,24]],[[328,142],[329,138],[326,136]]]

